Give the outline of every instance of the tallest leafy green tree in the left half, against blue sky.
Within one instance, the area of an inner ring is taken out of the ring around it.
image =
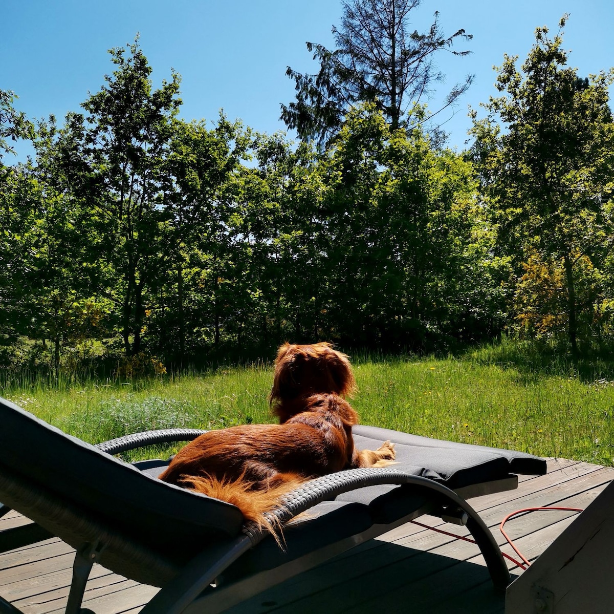
[[[152,293],[166,274],[171,214],[164,207],[166,160],[181,100],[179,75],[153,89],[138,42],[111,49],[117,67],[69,114],[60,135],[63,170],[87,203],[100,258],[115,275],[107,291],[120,313],[126,355],[142,351]]]

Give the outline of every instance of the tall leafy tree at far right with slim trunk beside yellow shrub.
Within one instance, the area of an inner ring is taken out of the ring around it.
[[[497,90],[505,95],[484,105],[486,119],[473,113],[472,133],[499,245],[515,254],[524,287],[536,278],[529,269],[554,270],[561,263],[567,339],[578,355],[578,313],[593,305],[578,301],[577,279],[587,266],[599,268],[612,248],[614,125],[608,86],[614,70],[581,79],[567,66],[566,20],[567,15],[553,39],[548,28],[537,28],[522,73],[518,57],[505,55],[497,69]]]

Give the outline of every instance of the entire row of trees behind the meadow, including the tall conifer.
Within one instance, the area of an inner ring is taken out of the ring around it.
[[[0,160],[0,369],[157,379],[284,340],[449,351],[506,328],[574,358],[611,347],[614,73],[580,79],[561,36],[538,29],[520,71],[505,58],[503,95],[457,154],[401,104],[437,81],[431,54],[464,36],[437,20],[410,34],[417,5],[344,5],[323,64],[346,88],[326,146],[223,113],[180,119],[179,75],[153,87],[138,41],[111,50],[113,73],[62,124],[34,129],[0,96],[0,148],[28,137],[36,150]],[[395,94],[375,57],[393,46]],[[356,74],[337,74],[351,57]]]

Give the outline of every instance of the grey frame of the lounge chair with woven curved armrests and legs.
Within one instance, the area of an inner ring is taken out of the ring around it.
[[[205,432],[195,429],[146,431],[112,439],[96,447],[108,454],[119,454],[152,444],[190,441]],[[465,498],[511,490],[518,485],[518,477],[513,474],[504,479],[481,482],[455,492],[432,479],[406,474],[393,467],[345,470],[301,484],[286,495],[279,508],[271,511],[269,515],[274,522],[285,524],[317,503],[330,500],[343,492],[382,484],[411,487],[426,495],[427,503],[391,524],[371,525],[363,532],[328,544],[279,567],[257,572],[225,585],[223,581],[220,582],[223,571],[266,538],[269,535],[266,530],[258,529],[256,525],[248,522],[236,538],[211,546],[177,570],[169,567],[168,561],[165,561],[155,548],[146,548],[126,535],[119,535],[106,523],[86,518],[77,506],[67,506],[66,502],[52,492],[32,487],[26,478],[17,473],[3,471],[0,474],[0,492],[6,505],[0,504],[0,517],[14,508],[34,522],[25,527],[1,532],[0,552],[36,543],[54,535],[62,538],[64,527],[70,527],[71,533],[79,533],[81,541],[76,547],[66,614],[90,612],[82,608],[85,586],[92,565],[106,548],[119,551],[139,564],[155,566],[160,569],[162,575],[173,577],[143,608],[143,614],[220,612],[265,588],[321,564],[335,554],[428,513],[440,516],[446,521],[467,525],[484,556],[495,589],[505,591],[511,580],[499,546]],[[36,524],[37,518],[45,519],[45,528]],[[0,613],[18,614],[20,610],[0,597]]]

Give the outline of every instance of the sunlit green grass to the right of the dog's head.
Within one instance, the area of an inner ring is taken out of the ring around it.
[[[357,367],[364,423],[544,456],[612,464],[614,384],[464,360]]]

